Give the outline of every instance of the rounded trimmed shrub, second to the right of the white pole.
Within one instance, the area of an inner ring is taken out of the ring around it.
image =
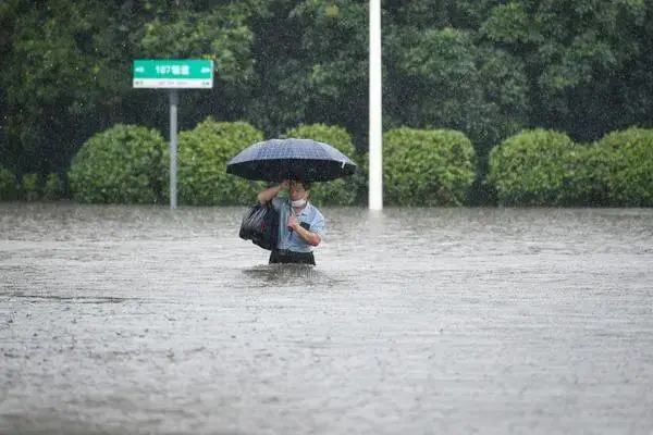
[[[503,206],[560,206],[587,195],[584,147],[566,134],[532,129],[504,140],[490,152],[486,183]]]

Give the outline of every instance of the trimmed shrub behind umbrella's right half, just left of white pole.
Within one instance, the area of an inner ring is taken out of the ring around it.
[[[299,139],[313,139],[320,142],[329,144],[337,149],[354,163],[359,164],[356,156],[352,136],[347,130],[338,126],[328,126],[324,124],[301,124],[286,132],[287,137]],[[357,170],[359,173],[360,170]],[[360,184],[360,175],[355,174],[349,178],[337,178],[326,183],[315,183],[310,188],[311,202],[333,206],[352,206],[357,198]]]

